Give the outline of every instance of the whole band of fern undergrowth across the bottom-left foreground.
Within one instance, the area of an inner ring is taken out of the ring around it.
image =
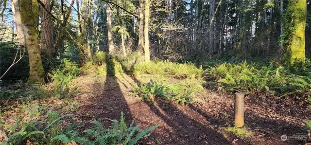
[[[23,122],[21,118],[14,126],[6,130],[6,140],[0,145],[135,145],[143,137],[150,136],[152,126],[141,130],[139,125],[134,125],[134,120],[129,127],[126,126],[123,112],[120,122],[112,121],[112,128],[105,129],[101,122],[92,121],[94,128],[78,132],[76,129],[81,124],[64,124],[64,119],[71,114],[60,115],[59,111],[49,110],[42,119]]]

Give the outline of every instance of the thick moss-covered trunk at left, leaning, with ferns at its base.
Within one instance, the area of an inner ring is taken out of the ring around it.
[[[37,35],[39,22],[37,0],[20,0],[20,16],[29,55],[29,82],[44,83],[44,70]]]

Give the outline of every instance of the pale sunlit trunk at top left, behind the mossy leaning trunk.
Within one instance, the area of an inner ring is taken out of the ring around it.
[[[24,32],[23,32],[23,24],[20,18],[18,0],[12,0],[12,13],[13,13],[14,22],[16,24],[16,29],[17,29],[16,32],[17,32],[18,45],[26,46]]]

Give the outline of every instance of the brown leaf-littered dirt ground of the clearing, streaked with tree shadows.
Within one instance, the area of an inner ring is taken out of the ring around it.
[[[75,95],[80,108],[73,110],[72,121],[89,123],[100,120],[105,127],[120,119],[124,112],[127,124],[135,119],[141,128],[159,125],[140,145],[304,145],[304,140],[282,141],[281,135],[306,135],[304,119],[311,119],[311,110],[299,107],[290,99],[275,96],[247,96],[245,130],[252,137],[240,137],[225,131],[233,127],[234,97],[204,88],[195,94],[192,104],[182,106],[172,101],[143,101],[133,94],[136,84],[149,82],[157,75],[126,74],[116,76],[83,75],[73,81],[82,90]],[[169,82],[178,81],[170,78]],[[86,124],[89,126],[90,124]]]

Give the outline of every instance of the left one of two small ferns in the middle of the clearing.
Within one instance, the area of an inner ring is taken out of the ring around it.
[[[163,83],[157,83],[150,79],[150,82],[135,87],[134,94],[144,100],[153,100],[155,97],[168,99],[168,88]]]

